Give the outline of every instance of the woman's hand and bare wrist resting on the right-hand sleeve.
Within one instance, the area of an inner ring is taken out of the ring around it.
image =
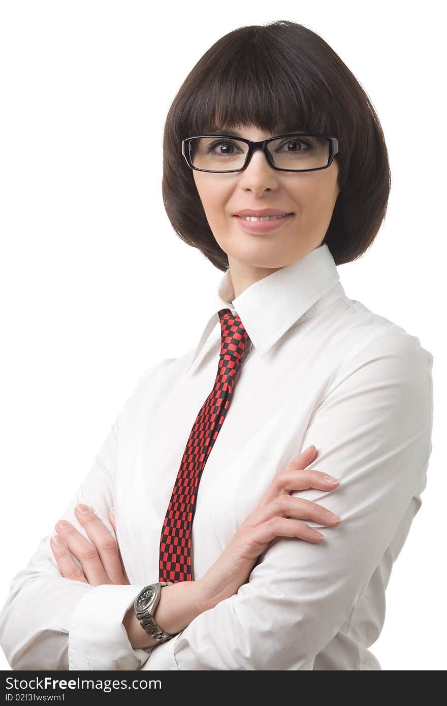
[[[297,537],[313,544],[323,539],[323,534],[305,522],[290,518],[315,520],[330,527],[338,525],[338,515],[317,503],[289,495],[294,490],[336,488],[337,479],[327,481],[328,476],[322,471],[304,470],[314,460],[315,453],[315,446],[309,446],[275,475],[261,503],[246,517],[230,544],[200,579],[205,600],[210,605],[237,593],[248,580],[256,559],[275,537]]]

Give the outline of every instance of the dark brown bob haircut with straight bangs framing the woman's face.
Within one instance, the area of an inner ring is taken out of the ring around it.
[[[181,140],[237,124],[338,138],[340,193],[322,242],[336,265],[362,256],[386,214],[388,151],[369,97],[333,49],[288,20],[238,28],[203,54],[169,107],[163,203],[179,237],[224,272],[227,254],[208,225]]]

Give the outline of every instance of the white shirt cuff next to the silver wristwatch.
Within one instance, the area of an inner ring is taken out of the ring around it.
[[[133,649],[122,621],[145,584],[102,584],[78,602],[68,633],[68,669],[140,669],[153,647]]]

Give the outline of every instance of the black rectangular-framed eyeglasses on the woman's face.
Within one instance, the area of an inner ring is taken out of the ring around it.
[[[338,153],[338,139],[317,133],[287,133],[253,142],[210,134],[181,142],[181,154],[198,172],[242,172],[254,150],[263,150],[270,167],[280,172],[316,172],[330,167]]]

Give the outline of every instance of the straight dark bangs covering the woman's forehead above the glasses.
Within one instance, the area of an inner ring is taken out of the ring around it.
[[[257,126],[277,135],[332,135],[336,120],[326,81],[315,64],[309,66],[306,52],[297,47],[287,56],[282,45],[261,43],[256,32],[242,39],[234,47],[233,35],[230,55],[224,41],[211,62],[203,56],[200,88],[191,85],[193,95],[184,106],[182,139],[238,126]]]

